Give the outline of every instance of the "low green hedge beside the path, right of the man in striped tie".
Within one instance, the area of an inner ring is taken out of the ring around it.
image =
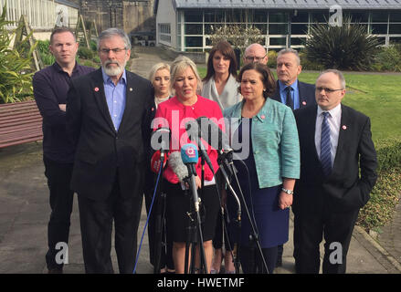
[[[357,224],[366,231],[380,233],[380,227],[388,223],[395,212],[401,192],[401,140],[380,141],[376,145],[378,178],[371,199],[361,209]]]

